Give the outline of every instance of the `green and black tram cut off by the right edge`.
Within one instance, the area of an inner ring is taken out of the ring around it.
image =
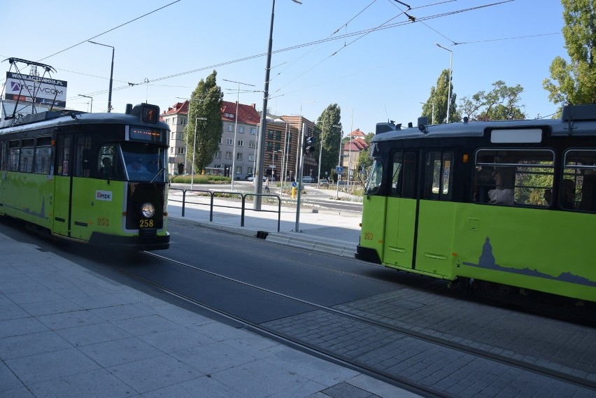
[[[596,105],[402,129],[371,144],[355,257],[462,289],[596,301]]]

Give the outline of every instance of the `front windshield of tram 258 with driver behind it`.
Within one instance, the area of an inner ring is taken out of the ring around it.
[[[166,150],[146,143],[121,143],[127,180],[143,182],[164,182]]]

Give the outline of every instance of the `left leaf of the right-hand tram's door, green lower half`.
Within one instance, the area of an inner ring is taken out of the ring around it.
[[[418,153],[392,155],[391,191],[387,198],[383,262],[413,268],[416,232],[416,170]]]

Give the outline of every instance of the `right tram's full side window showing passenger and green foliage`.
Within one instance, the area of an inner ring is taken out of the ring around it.
[[[474,201],[508,206],[549,206],[554,164],[551,150],[478,150]]]

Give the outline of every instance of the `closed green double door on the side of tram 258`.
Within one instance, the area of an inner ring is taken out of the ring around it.
[[[89,239],[91,136],[63,134],[57,140],[54,228],[56,234]]]

